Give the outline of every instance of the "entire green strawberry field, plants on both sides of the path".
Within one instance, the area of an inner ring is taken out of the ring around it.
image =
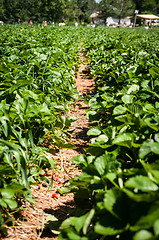
[[[62,186],[76,211],[58,239],[159,238],[159,30],[3,26],[0,82],[0,224],[30,185],[50,180],[50,154],[73,148],[67,117],[78,99],[79,48],[90,64],[95,91],[85,96],[91,143],[71,159],[82,174]],[[45,142],[55,149],[48,149]],[[52,230],[58,219],[52,222]],[[57,229],[56,229],[57,230]]]

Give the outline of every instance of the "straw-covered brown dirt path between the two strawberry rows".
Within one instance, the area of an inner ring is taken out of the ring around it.
[[[80,52],[81,64],[77,73],[76,86],[82,96],[89,94],[93,90],[94,81],[88,76],[88,65],[85,63],[85,58],[82,51]],[[46,218],[52,214],[62,221],[70,216],[69,212],[74,205],[74,196],[72,193],[66,196],[58,195],[55,199],[52,194],[66,180],[74,178],[81,173],[80,169],[75,166],[70,159],[73,156],[82,154],[84,148],[88,145],[86,132],[88,130],[89,121],[86,117],[87,105],[83,101],[76,102],[70,111],[71,116],[75,116],[77,121],[74,122],[75,129],[71,137],[71,142],[77,147],[75,150],[62,149],[55,156],[54,185],[51,191],[44,184],[32,186],[33,196],[35,198],[35,206],[30,203],[23,205],[22,218],[16,219],[13,226],[8,228],[8,236],[6,240],[35,240],[35,239],[57,239],[49,229],[42,231],[43,224],[46,223]]]

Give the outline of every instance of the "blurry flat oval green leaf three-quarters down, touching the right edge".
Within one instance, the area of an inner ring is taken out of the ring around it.
[[[158,186],[154,182],[152,182],[148,177],[142,175],[130,178],[125,182],[125,186],[128,188],[138,189],[143,192],[158,190]]]

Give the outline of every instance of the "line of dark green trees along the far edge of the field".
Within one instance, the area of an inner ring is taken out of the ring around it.
[[[89,23],[90,15],[99,11],[101,18],[119,19],[140,13],[159,14],[159,0],[0,0],[0,20],[5,23],[54,21]]]

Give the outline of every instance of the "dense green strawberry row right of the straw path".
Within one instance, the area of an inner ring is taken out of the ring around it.
[[[63,186],[78,208],[59,239],[159,238],[159,34],[87,29],[83,49],[95,78],[93,126],[82,174]],[[56,220],[57,221],[57,220]]]

